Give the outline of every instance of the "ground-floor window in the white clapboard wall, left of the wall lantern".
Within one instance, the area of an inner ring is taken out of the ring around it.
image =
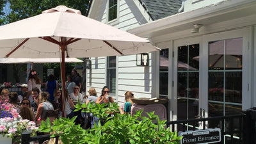
[[[110,93],[116,93],[116,56],[107,57],[107,86]]]

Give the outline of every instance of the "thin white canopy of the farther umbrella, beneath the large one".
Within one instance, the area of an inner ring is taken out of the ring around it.
[[[60,63],[60,58],[0,58],[0,63]],[[65,58],[65,63],[82,63],[77,58]]]

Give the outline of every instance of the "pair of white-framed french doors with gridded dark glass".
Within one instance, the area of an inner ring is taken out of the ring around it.
[[[174,42],[173,120],[234,115],[250,105],[247,35],[241,29]]]

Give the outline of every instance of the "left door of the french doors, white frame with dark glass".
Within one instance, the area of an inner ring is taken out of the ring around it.
[[[191,42],[189,42],[191,41]],[[175,42],[173,54],[173,120],[199,117],[200,43],[196,38]],[[187,129],[192,124],[186,124]],[[198,127],[198,125],[196,125]],[[181,129],[177,125],[177,131]]]

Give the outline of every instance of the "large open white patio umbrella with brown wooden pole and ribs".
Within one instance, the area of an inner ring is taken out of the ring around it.
[[[61,51],[62,88],[66,56],[122,56],[160,50],[145,38],[84,17],[79,10],[66,6],[0,26],[0,33],[0,58],[58,58]]]

